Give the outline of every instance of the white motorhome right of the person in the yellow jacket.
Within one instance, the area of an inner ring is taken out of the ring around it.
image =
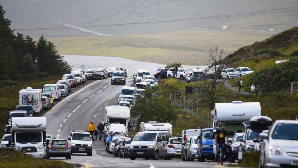
[[[105,132],[111,123],[123,124],[127,131],[127,126],[128,126],[129,117],[130,117],[130,110],[127,106],[106,105],[104,109],[105,109],[105,117],[104,117]]]

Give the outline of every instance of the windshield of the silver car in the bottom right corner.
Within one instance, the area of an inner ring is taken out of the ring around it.
[[[272,134],[272,139],[298,140],[298,124],[278,123]]]

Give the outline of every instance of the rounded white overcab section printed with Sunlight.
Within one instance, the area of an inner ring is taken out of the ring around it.
[[[215,103],[213,115],[220,122],[244,122],[251,117],[261,115],[260,102],[233,101],[232,103]]]

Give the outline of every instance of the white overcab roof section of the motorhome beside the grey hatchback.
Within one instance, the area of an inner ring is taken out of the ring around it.
[[[46,117],[12,117],[11,131],[46,130]]]

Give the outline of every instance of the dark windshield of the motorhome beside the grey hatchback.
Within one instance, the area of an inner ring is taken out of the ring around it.
[[[41,132],[19,132],[16,133],[18,143],[41,142]]]

